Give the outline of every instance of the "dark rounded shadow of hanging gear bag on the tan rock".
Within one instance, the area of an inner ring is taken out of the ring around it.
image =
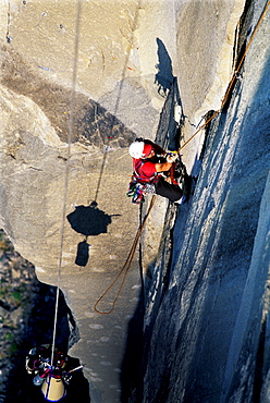
[[[85,241],[77,245],[77,255],[75,264],[77,266],[86,266],[89,258],[88,236],[95,236],[107,233],[108,225],[111,223],[111,217],[120,215],[107,215],[100,210],[96,202],[89,206],[76,206],[75,210],[66,216],[71,228],[79,234],[86,236]]]

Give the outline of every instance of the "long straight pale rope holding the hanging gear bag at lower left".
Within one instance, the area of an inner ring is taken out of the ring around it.
[[[63,242],[64,242],[64,223],[66,216],[66,200],[68,200],[68,187],[69,187],[69,171],[70,171],[70,157],[71,157],[71,144],[72,144],[72,126],[73,117],[75,110],[75,88],[76,88],[76,77],[77,77],[77,59],[78,59],[78,39],[79,39],[79,23],[82,13],[82,0],[77,0],[77,16],[75,26],[75,44],[74,44],[74,58],[73,58],[73,74],[72,74],[72,91],[71,91],[71,105],[70,105],[70,120],[68,126],[68,156],[64,172],[64,194],[63,194],[63,210],[62,210],[62,224],[60,231],[60,253],[59,253],[59,264],[58,264],[58,285],[57,285],[57,296],[56,296],[56,310],[54,310],[54,321],[53,321],[53,334],[52,334],[52,349],[51,349],[51,366],[53,364],[53,354],[56,346],[56,335],[57,335],[57,321],[58,321],[58,307],[59,307],[59,292],[60,292],[60,281],[61,281],[61,270],[62,270],[62,259],[63,259]]]

